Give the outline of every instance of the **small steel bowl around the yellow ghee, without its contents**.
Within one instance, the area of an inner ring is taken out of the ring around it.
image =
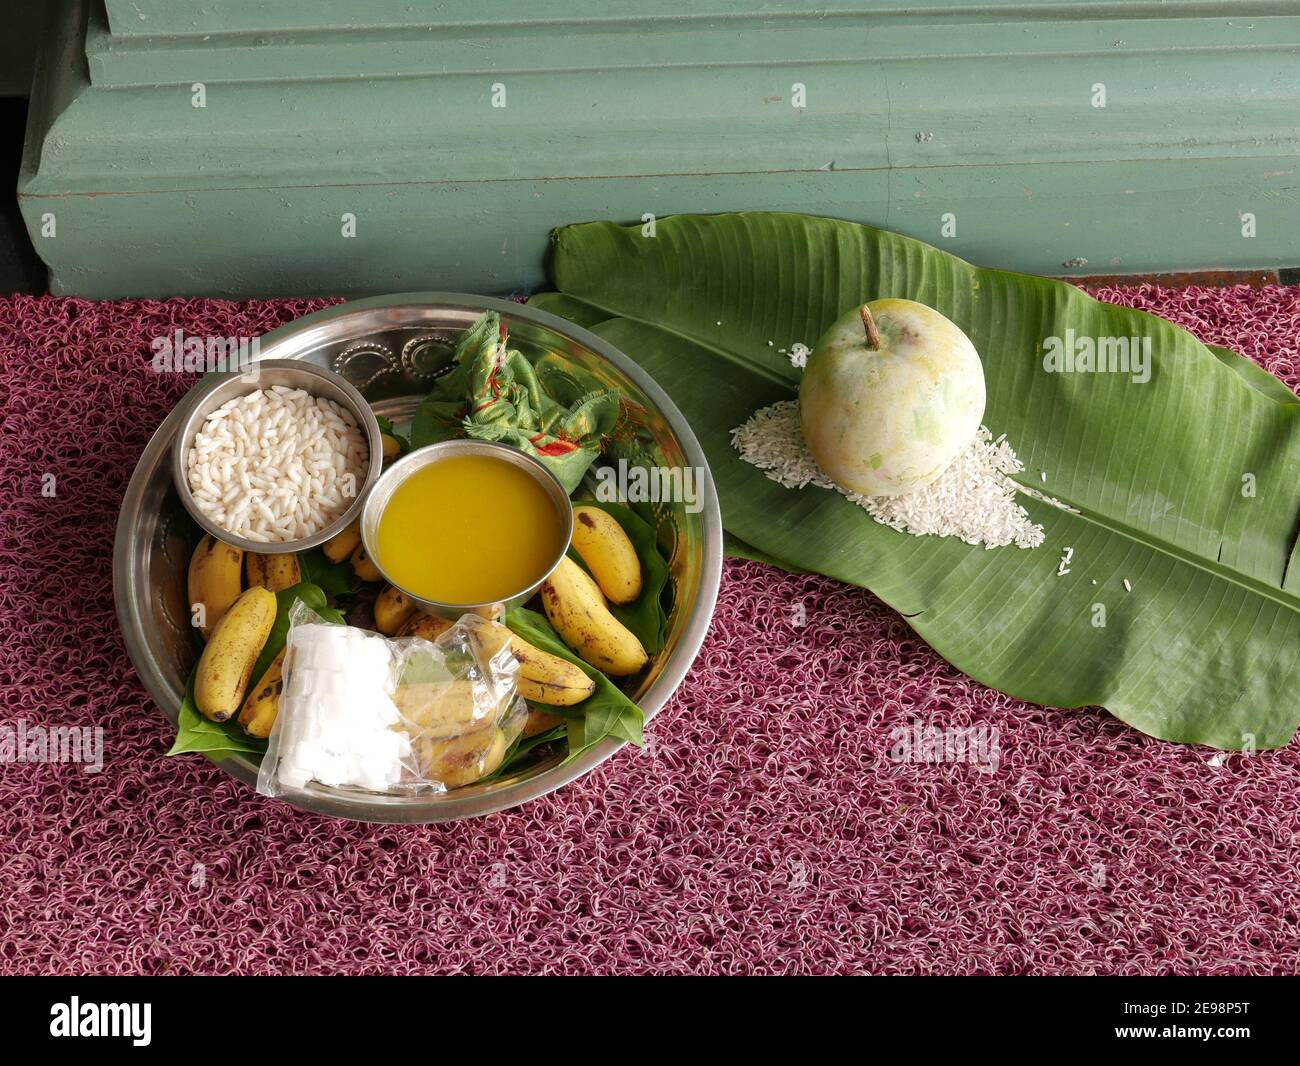
[[[546,490],[551,503],[555,506],[555,517],[559,521],[562,534],[560,550],[556,552],[555,558],[550,560],[545,573],[542,573],[526,589],[519,589],[504,601],[490,601],[485,603],[439,603],[436,599],[426,599],[421,595],[416,595],[416,593],[411,589],[394,581],[393,577],[384,569],[384,558],[377,550],[376,534],[380,529],[380,516],[389,506],[389,500],[393,499],[393,493],[396,491],[398,486],[416,471],[421,471],[425,467],[430,467],[434,463],[441,463],[443,459],[450,459],[456,455],[486,455],[493,459],[510,463],[512,467],[517,467],[519,469],[532,474],[537,484]],[[370,558],[370,562],[374,563],[380,573],[384,575],[384,580],[430,614],[448,619],[458,619],[469,611],[474,611],[476,614],[490,612],[491,616],[495,616],[498,611],[493,608],[499,608],[500,612],[504,612],[511,607],[521,607],[525,602],[528,602],[529,597],[532,597],[532,594],[542,586],[542,582],[551,576],[551,571],[560,564],[560,559],[563,559],[564,552],[568,551],[569,540],[572,537],[573,507],[569,504],[568,493],[564,491],[564,486],[560,485],[555,474],[546,469],[546,467],[538,463],[532,455],[525,455],[517,448],[512,448],[508,445],[498,445],[493,441],[441,441],[437,445],[426,445],[422,448],[416,448],[408,455],[402,456],[384,472],[380,480],[370,488],[370,491],[367,493],[365,503],[361,507],[361,543],[365,545],[365,554]]]

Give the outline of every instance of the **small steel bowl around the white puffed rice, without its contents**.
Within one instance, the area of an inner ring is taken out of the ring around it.
[[[290,389],[303,389],[313,396],[325,396],[334,400],[339,407],[351,412],[358,426],[365,433],[365,441],[370,448],[369,465],[365,478],[356,486],[356,498],[342,515],[329,525],[317,529],[309,537],[296,541],[250,541],[237,537],[228,529],[222,529],[209,519],[194,502],[190,490],[190,480],[186,477],[186,455],[203,426],[204,420],[237,396],[269,389],[272,385],[283,385]],[[299,359],[263,359],[254,364],[251,373],[230,372],[222,374],[209,374],[198,382],[182,400],[185,404],[181,429],[176,434],[172,445],[172,481],[176,484],[176,493],[190,512],[194,520],[222,543],[231,545],[244,551],[255,551],[259,555],[286,555],[290,551],[306,551],[316,545],[325,543],[335,533],[342,532],[347,525],[358,519],[365,503],[367,490],[374,485],[384,471],[384,441],[380,436],[380,421],[374,417],[370,404],[365,402],[360,393],[354,389],[346,378],[339,377],[333,370],[317,367]]]

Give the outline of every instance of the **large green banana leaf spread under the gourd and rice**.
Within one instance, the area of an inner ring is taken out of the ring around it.
[[[1295,733],[1300,400],[1277,378],[1063,282],[836,220],[677,216],[653,238],[594,222],[556,230],[552,252],[559,292],[533,304],[589,325],[668,391],[725,528],[760,556],[871,589],[956,667],[1023,699],[1100,705],[1230,750]],[[783,489],[732,448],[734,426],[796,395],[780,350],[884,296],[937,308],[980,351],[985,424],[1024,462],[1023,485],[1078,512],[1022,497],[1041,547],[910,537],[836,493]],[[1048,338],[1067,329],[1150,338],[1149,381],[1048,373]]]

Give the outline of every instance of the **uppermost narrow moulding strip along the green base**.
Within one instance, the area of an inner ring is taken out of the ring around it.
[[[1132,68],[1143,57],[1144,64],[1174,58],[1179,65],[1195,66],[1208,53],[1225,49],[1232,49],[1243,72],[1245,64],[1260,61],[1294,79],[1294,65],[1284,64],[1294,61],[1297,44],[1300,25],[1280,16],[1240,21],[1130,16],[1060,22],[1020,20],[1005,8],[987,16],[961,9],[942,14],[907,10],[872,17],[828,13],[766,20],[637,18],[174,38],[114,35],[101,13],[92,10],[86,53],[91,81],[104,87],[376,74],[426,78],[430,72],[454,77],[644,68],[693,75],[703,66],[718,68],[722,77],[758,66],[780,83],[786,75],[816,75],[827,66],[861,70],[868,62],[920,60],[933,70],[937,60],[958,60],[979,64],[983,72],[976,77],[992,75],[989,87],[996,90],[997,77],[1014,70],[1018,62],[1027,64],[1024,73],[1031,78],[1052,75],[1063,87],[1075,70],[1084,77],[1105,73],[1101,62]],[[1063,60],[1070,69],[1056,69],[1046,60]],[[953,69],[949,74],[945,69],[939,87],[950,91],[962,84],[963,73]],[[1262,72],[1251,74],[1243,88],[1266,82]],[[1000,99],[994,96],[989,103]]]

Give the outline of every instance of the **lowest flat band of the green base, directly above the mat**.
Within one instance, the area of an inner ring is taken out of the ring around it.
[[[1284,160],[1273,165],[1282,168]],[[417,289],[523,292],[542,282],[547,233],[588,218],[636,221],[681,211],[806,211],[888,225],[975,263],[1035,273],[1154,272],[1295,256],[1295,194],[1261,198],[1258,161],[1166,165],[1158,190],[1148,164],[1088,170],[1082,204],[1067,168],[918,168],[857,173],[545,179],[213,190],[44,204],[58,237],[38,237],[53,290],[121,295],[370,295]],[[1290,170],[1294,181],[1294,169]],[[1206,199],[1251,200],[1256,248],[1231,209],[1206,217]],[[29,203],[29,209],[31,205]],[[356,237],[341,234],[355,213]],[[957,234],[942,235],[953,213]],[[1136,238],[1135,233],[1150,234]],[[1179,259],[1170,260],[1176,244]],[[87,252],[87,248],[92,250]],[[68,254],[65,256],[65,250]]]

